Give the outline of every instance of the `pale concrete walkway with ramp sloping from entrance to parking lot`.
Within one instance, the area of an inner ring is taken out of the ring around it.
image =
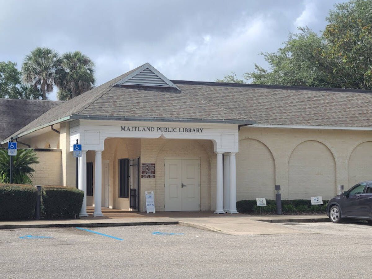
[[[211,211],[196,212],[158,212],[146,214],[143,212],[125,212],[109,217],[85,217],[70,220],[34,220],[0,222],[0,229],[14,228],[47,228],[47,227],[112,227],[135,225],[183,225],[203,230],[225,234],[293,234],[304,233],[285,227],[280,222],[328,222],[326,215],[271,215],[254,216],[246,214],[213,214]]]

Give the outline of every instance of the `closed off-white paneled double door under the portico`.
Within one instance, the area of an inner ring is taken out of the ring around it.
[[[165,159],[164,168],[164,210],[199,210],[199,159]]]

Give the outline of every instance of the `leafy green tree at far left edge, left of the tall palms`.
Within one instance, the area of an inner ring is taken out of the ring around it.
[[[21,73],[17,63],[0,62],[0,98],[17,98],[17,85],[20,84]]]

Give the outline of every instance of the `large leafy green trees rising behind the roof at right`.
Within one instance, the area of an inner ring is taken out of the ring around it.
[[[244,78],[257,84],[372,89],[372,0],[334,7],[321,36],[299,28],[277,52],[261,53],[269,70],[255,64]]]

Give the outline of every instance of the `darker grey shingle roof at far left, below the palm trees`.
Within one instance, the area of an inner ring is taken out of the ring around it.
[[[64,102],[50,100],[0,99],[0,141],[61,103]]]

